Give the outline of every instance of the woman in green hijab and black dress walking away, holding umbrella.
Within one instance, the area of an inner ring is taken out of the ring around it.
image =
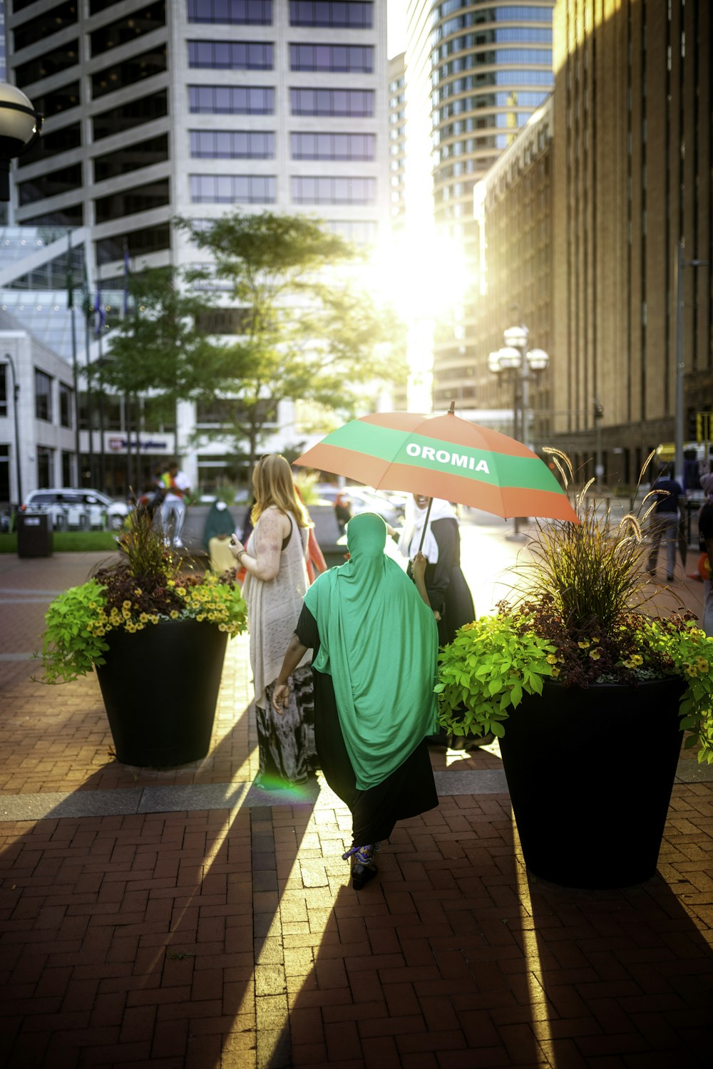
[[[329,787],[353,817],[352,882],[376,874],[374,852],[399,820],[438,805],[424,738],[436,721],[438,631],[423,573],[412,583],[384,553],[386,525],[362,512],[346,528],[350,559],[309,588],[277,678],[273,704],[289,699],[288,678],[314,651],[315,740]]]

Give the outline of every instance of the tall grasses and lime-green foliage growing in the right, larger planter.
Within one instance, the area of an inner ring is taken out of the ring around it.
[[[569,460],[554,455],[565,484]],[[650,458],[651,459],[651,458]],[[646,470],[646,466],[645,469]],[[644,472],[642,472],[644,475]],[[439,654],[441,727],[453,734],[505,734],[509,710],[523,694],[542,694],[544,679],[562,686],[678,676],[686,684],[681,725],[713,763],[713,638],[691,614],[646,611],[642,527],[655,498],[618,523],[610,508],[579,493],[579,524],[538,521],[530,560],[517,569],[522,594],[496,616],[466,624]]]

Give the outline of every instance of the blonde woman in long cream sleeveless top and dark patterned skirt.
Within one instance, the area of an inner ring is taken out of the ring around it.
[[[233,536],[231,549],[246,571],[250,664],[255,687],[260,778],[263,787],[305,783],[317,768],[309,656],[296,666],[290,704],[277,715],[272,695],[307,591],[312,526],[284,456],[268,453],[252,472],[254,525],[248,546]]]

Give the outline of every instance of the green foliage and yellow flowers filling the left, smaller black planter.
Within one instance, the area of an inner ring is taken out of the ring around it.
[[[161,620],[204,621],[231,636],[245,631],[247,606],[233,574],[183,574],[181,558],[165,547],[145,511],[130,514],[117,542],[118,561],[50,604],[43,682],[71,682],[104,664],[112,631],[135,634]]]

